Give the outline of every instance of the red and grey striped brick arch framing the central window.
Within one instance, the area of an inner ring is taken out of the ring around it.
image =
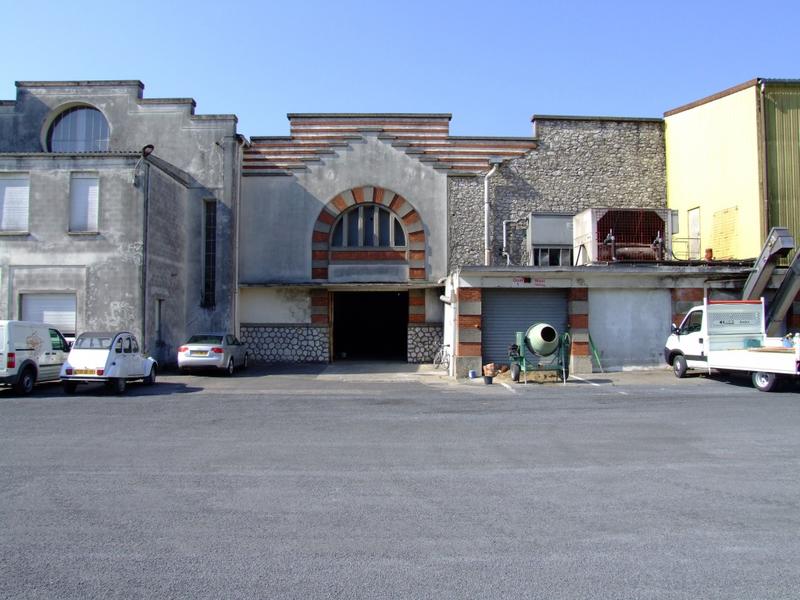
[[[352,251],[347,248],[333,250],[330,245],[332,228],[343,212],[358,204],[379,204],[387,207],[402,221],[406,230],[406,249],[374,248]],[[348,260],[405,260],[409,279],[425,279],[425,228],[412,204],[391,190],[377,186],[357,187],[337,194],[320,211],[311,235],[311,279],[327,280],[331,262]]]

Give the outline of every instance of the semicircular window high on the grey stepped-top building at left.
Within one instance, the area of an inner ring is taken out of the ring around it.
[[[106,152],[108,121],[96,108],[75,106],[58,115],[47,132],[50,152]]]

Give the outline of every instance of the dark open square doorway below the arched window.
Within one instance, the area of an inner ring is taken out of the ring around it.
[[[333,359],[407,360],[408,292],[334,292]]]

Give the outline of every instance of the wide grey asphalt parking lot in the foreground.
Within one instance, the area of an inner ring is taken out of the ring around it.
[[[796,388],[503,383],[0,391],[0,597],[797,597]]]

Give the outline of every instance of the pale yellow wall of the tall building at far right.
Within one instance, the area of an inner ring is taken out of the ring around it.
[[[667,202],[678,211],[679,258],[757,257],[766,233],[758,87],[666,113]],[[688,255],[689,211],[699,209],[699,255]],[[685,254],[681,255],[683,248]]]

